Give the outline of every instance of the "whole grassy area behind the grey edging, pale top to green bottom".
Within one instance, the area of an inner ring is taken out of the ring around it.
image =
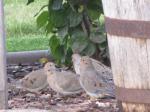
[[[27,0],[4,0],[6,42],[8,51],[48,49],[49,38],[37,29],[36,17],[47,0],[36,0],[26,5]]]

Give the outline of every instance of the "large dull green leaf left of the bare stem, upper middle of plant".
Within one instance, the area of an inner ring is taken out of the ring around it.
[[[69,25],[70,27],[75,27],[79,25],[82,21],[82,13],[77,13],[75,11],[70,11],[69,13]]]

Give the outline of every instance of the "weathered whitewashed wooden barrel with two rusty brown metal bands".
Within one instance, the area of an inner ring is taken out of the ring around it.
[[[150,0],[102,1],[120,109],[150,112]]]

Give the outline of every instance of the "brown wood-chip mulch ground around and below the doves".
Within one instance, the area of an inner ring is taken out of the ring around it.
[[[39,94],[23,90],[19,80],[33,70],[43,66],[39,63],[9,65],[9,109],[46,109],[53,112],[117,112],[116,99],[98,99],[91,101],[85,93],[72,96],[58,96],[47,87]]]

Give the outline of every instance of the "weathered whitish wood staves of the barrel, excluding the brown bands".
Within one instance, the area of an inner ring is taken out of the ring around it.
[[[106,17],[150,21],[150,0],[103,0]],[[142,30],[142,29],[141,29]],[[108,34],[115,85],[150,89],[150,39]],[[122,103],[125,112],[149,112],[150,105]]]

